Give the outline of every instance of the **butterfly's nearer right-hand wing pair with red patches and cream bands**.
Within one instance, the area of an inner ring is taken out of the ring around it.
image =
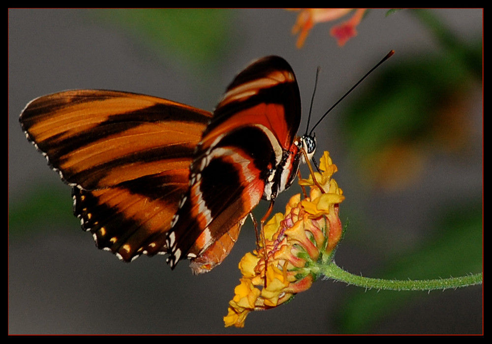
[[[199,273],[227,256],[249,212],[277,195],[275,173],[293,155],[300,120],[299,87],[281,57],[262,58],[235,78],[191,164],[167,243],[172,267],[191,258]]]

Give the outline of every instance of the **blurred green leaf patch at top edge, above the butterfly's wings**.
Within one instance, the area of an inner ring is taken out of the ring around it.
[[[221,60],[234,26],[227,9],[101,9],[91,11],[103,23],[116,24],[138,35],[157,56],[170,52],[197,67]]]

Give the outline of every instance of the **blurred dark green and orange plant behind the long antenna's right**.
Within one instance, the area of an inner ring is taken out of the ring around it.
[[[405,13],[426,25],[442,49],[399,57],[348,105],[341,132],[368,185],[405,187],[428,155],[458,152],[473,134],[466,102],[482,82],[482,40],[462,42],[430,11],[397,15]]]

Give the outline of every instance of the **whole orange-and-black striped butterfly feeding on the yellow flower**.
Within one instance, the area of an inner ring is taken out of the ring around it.
[[[74,214],[98,248],[124,261],[168,254],[172,268],[189,258],[194,273],[220,264],[252,209],[273,204],[312,157],[315,140],[296,135],[300,121],[294,71],[277,56],[240,72],[214,113],[69,90],[32,100],[20,116],[72,187]]]

